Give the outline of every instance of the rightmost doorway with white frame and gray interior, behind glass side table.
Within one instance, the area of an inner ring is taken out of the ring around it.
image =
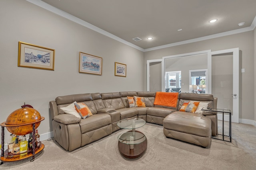
[[[217,108],[230,109],[231,121],[239,123],[239,48],[212,52],[212,94],[218,98]],[[228,114],[224,121],[229,121]]]

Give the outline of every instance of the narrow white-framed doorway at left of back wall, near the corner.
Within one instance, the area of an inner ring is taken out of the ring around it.
[[[162,87],[164,81],[163,64],[163,59],[147,61],[147,92],[165,92]]]

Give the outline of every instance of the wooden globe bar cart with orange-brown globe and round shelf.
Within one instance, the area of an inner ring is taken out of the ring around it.
[[[30,109],[33,108],[30,105],[24,105],[24,106],[22,106],[22,109],[26,109],[25,107],[26,108],[30,107]],[[38,112],[38,111],[36,111],[36,112]],[[35,143],[35,134],[36,134],[35,129],[40,125],[40,122],[44,120],[44,117],[41,117],[40,113],[38,113],[38,114],[39,115],[33,115],[34,117],[36,117],[36,119],[32,120],[32,122],[16,124],[16,125],[9,125],[7,123],[7,121],[5,121],[5,122],[0,124],[1,128],[2,128],[2,138],[1,138],[2,139],[2,141],[1,141],[2,149],[1,149],[0,165],[3,164],[4,162],[13,162],[13,161],[22,160],[22,159],[29,158],[29,157],[32,157],[32,159],[30,160],[32,162],[35,159],[35,155],[38,154],[40,151],[42,151],[44,149],[44,144],[42,144],[41,141],[37,144],[37,147],[36,147],[36,143]],[[28,115],[26,117],[28,117]],[[16,119],[18,119],[18,118],[16,117]],[[13,119],[12,119],[12,121],[13,121]],[[18,120],[16,122],[18,122]],[[28,147],[27,154],[25,156],[20,157],[20,154],[8,154],[8,149],[6,149],[4,151],[4,127],[6,127],[7,130],[11,133],[12,133],[12,129],[16,130],[16,133],[17,133],[16,135],[27,135],[29,133],[32,133],[32,135],[33,135],[33,139],[32,139],[33,147],[32,147],[32,149],[30,149]],[[24,131],[23,131],[23,129],[24,129]],[[18,156],[16,157],[15,155],[18,155]]]

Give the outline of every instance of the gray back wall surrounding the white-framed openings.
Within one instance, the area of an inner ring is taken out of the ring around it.
[[[254,35],[255,31],[248,31],[244,33],[238,33],[234,35],[228,35],[224,37],[208,39],[195,43],[189,43],[184,45],[178,45],[174,47],[168,47],[164,49],[158,49],[154,51],[148,51],[144,53],[144,63],[151,59],[161,59],[165,56],[178,55],[183,53],[191,53],[195,51],[204,51],[211,49],[212,51],[231,49],[239,47],[242,51],[242,68],[245,68],[245,72],[242,73],[240,81],[240,91],[242,96],[241,113],[239,114],[240,119],[255,120],[254,114]],[[146,75],[146,66],[144,66],[144,75]],[[144,76],[144,90],[146,90],[146,76]]]

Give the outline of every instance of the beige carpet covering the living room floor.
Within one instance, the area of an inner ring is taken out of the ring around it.
[[[219,121],[219,129],[221,125]],[[228,123],[225,122],[225,126]],[[117,137],[125,129],[94,143],[67,152],[54,141],[43,141],[45,148],[36,156],[17,162],[4,162],[1,170],[255,170],[256,127],[232,123],[232,143],[212,139],[210,148],[166,138],[163,127],[146,123],[137,129],[148,139],[146,153],[135,160],[123,158]],[[221,129],[220,129],[221,130]]]

